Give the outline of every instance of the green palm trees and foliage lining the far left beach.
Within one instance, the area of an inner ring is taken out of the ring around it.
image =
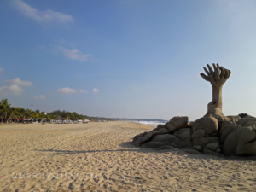
[[[9,104],[7,99],[3,99],[0,102],[0,118],[1,123],[3,124],[3,120],[6,123],[9,122],[17,122],[19,119],[43,119],[46,118],[48,120],[57,120],[57,119],[67,119],[67,120],[84,120],[89,119],[90,121],[99,121],[99,120],[114,120],[109,118],[99,118],[99,117],[90,117],[83,114],[78,114],[76,112],[68,112],[68,111],[60,111],[56,110],[51,113],[45,113],[44,111],[40,112],[39,110],[32,111],[30,109],[24,108],[13,108],[11,104]]]

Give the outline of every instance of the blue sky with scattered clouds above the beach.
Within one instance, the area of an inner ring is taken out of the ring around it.
[[[0,1],[0,99],[44,112],[201,118],[203,67],[231,71],[225,115],[256,116],[256,1]],[[32,105],[32,106],[31,106]]]

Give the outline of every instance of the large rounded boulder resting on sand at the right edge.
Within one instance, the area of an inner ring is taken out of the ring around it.
[[[225,155],[255,155],[255,137],[256,133],[252,127],[241,127],[226,137],[222,147],[223,153]]]

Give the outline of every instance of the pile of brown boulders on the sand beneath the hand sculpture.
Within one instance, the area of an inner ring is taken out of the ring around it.
[[[189,153],[256,155],[256,118],[240,114],[218,121],[207,115],[189,123],[189,117],[173,117],[166,125],[133,138],[143,148],[187,148]]]

